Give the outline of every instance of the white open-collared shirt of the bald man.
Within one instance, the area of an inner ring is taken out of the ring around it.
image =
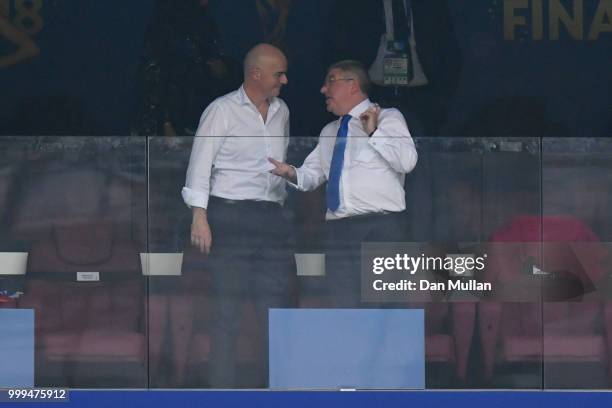
[[[243,87],[212,102],[200,119],[182,191],[189,207],[208,207],[211,195],[232,200],[282,203],[285,182],[269,173],[268,157],[285,160],[289,109],[270,100],[267,119]]]

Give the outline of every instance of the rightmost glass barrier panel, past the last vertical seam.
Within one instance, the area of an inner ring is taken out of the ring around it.
[[[544,268],[571,296],[543,307],[545,388],[610,384],[611,169],[607,139],[543,140]]]

